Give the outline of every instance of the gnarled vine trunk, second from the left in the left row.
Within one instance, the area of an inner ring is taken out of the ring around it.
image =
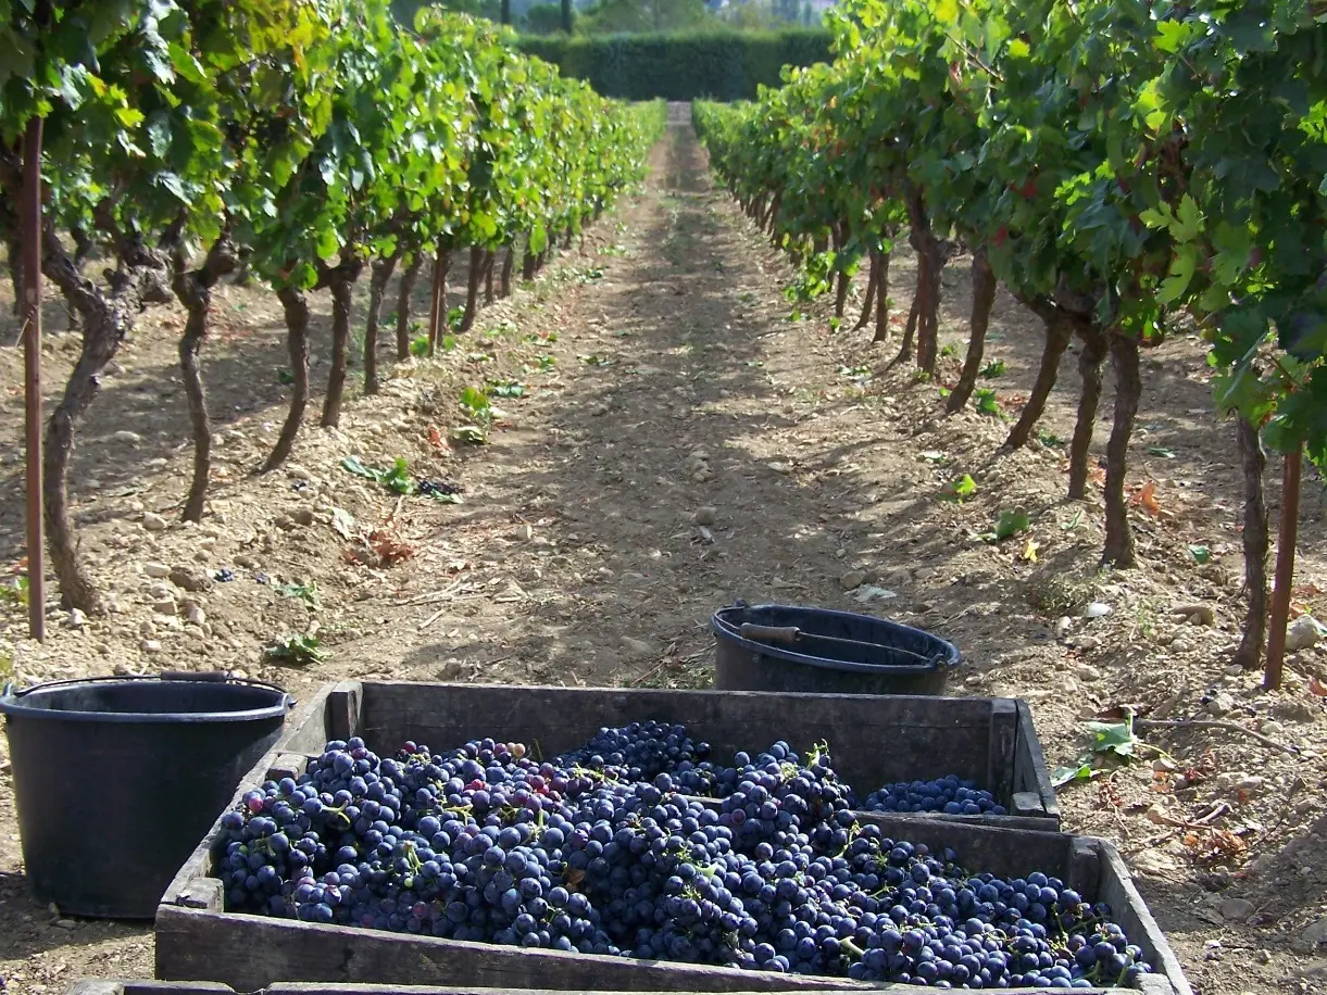
[[[184,521],[203,520],[207,482],[212,472],[212,421],[207,414],[207,391],[203,387],[203,370],[199,365],[203,341],[207,338],[212,288],[238,264],[235,245],[223,235],[208,248],[200,268],[190,271],[186,260],[178,257],[171,281],[186,313],[184,334],[179,338],[179,370],[184,379],[188,422],[194,434],[194,478],[184,499],[184,511],[180,513]]]

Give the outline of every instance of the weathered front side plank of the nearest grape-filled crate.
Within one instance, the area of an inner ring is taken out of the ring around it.
[[[454,984],[456,979],[494,988],[553,983],[560,991],[845,987],[832,978],[524,950],[169,906],[157,915],[155,947],[158,978],[216,980],[240,992],[279,982]]]

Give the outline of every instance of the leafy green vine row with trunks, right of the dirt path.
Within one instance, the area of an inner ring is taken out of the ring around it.
[[[840,318],[848,280],[869,265],[859,324],[874,309],[876,341],[889,337],[890,255],[906,236],[917,287],[896,364],[916,350],[918,377],[936,375],[941,269],[971,255],[971,330],[950,413],[973,395],[1003,283],[1046,333],[1010,448],[1031,436],[1079,340],[1071,498],[1085,495],[1109,358],[1103,560],[1117,566],[1135,563],[1124,484],[1140,349],[1196,322],[1217,405],[1239,414],[1250,598],[1238,659],[1257,666],[1263,443],[1327,462],[1327,11],[1303,0],[847,0],[829,20],[832,64],[786,70],[752,103],[695,106],[730,191],[802,267],[799,293],[836,289]]]

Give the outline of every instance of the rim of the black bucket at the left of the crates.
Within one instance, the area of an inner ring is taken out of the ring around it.
[[[173,685],[226,685],[252,687],[263,691],[272,691],[276,700],[261,708],[245,708],[243,711],[190,711],[190,712],[133,712],[133,711],[64,711],[60,708],[41,708],[28,704],[24,699],[28,695],[41,691],[62,690],[89,685],[146,685],[146,683]],[[36,719],[44,722],[84,722],[84,723],[111,723],[137,726],[182,726],[182,724],[214,724],[226,722],[257,722],[260,719],[284,718],[295,708],[295,695],[283,687],[269,685],[265,681],[231,677],[223,671],[192,673],[192,671],[165,671],[162,674],[130,674],[130,675],[102,675],[102,677],[74,677],[60,681],[44,681],[32,687],[16,689],[12,683],[0,690],[0,715],[7,719]]]

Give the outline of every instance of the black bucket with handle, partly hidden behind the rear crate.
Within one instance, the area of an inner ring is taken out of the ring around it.
[[[710,628],[721,691],[943,694],[958,666],[951,642],[851,612],[739,601]]]

